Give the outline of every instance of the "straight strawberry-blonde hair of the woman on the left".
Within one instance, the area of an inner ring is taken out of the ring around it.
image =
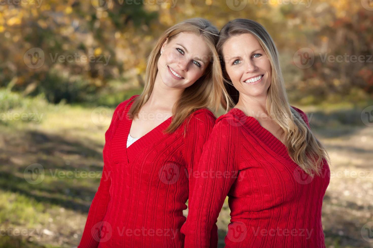
[[[134,103],[128,112],[129,118],[132,119],[139,113],[153,91],[154,81],[158,73],[157,63],[163,42],[166,41],[166,38],[170,41],[181,32],[190,32],[201,36],[210,48],[211,59],[204,75],[194,84],[185,88],[180,99],[173,106],[174,116],[172,122],[164,131],[166,133],[175,131],[197,109],[213,108],[217,111],[220,104],[225,109],[228,109],[229,105],[229,95],[225,91],[219,56],[215,48],[219,39],[219,31],[206,19],[192,18],[170,27],[159,37],[148,57],[144,90],[140,96],[134,99]]]

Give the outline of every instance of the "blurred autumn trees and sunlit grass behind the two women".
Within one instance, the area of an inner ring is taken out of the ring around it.
[[[141,92],[163,30],[191,17],[267,28],[331,157],[326,246],[373,247],[372,0],[0,0],[0,247],[79,244],[112,112]],[[225,203],[219,247],[228,223]]]

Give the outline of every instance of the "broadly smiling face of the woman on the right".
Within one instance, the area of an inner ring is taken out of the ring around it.
[[[267,96],[272,77],[271,64],[254,35],[232,36],[224,43],[222,52],[225,70],[240,95]]]

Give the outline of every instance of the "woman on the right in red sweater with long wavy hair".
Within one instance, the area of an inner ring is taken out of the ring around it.
[[[325,148],[300,109],[289,105],[279,55],[266,29],[235,19],[217,51],[232,109],[216,120],[194,180],[185,247],[216,243],[211,230],[228,194],[226,247],[325,247]]]

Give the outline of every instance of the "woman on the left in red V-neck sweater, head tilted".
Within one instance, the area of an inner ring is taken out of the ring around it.
[[[229,98],[222,97],[217,34],[195,18],[157,41],[144,91],[117,106],[105,133],[103,177],[79,247],[183,246],[189,175],[216,120],[207,107]]]

